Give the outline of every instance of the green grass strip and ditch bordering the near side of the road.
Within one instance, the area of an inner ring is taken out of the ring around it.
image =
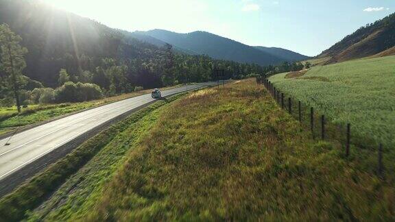
[[[131,114],[125,120],[87,140],[65,158],[0,199],[0,221],[19,221],[25,218],[25,214],[37,208],[56,190],[58,191],[53,193],[48,201],[49,207],[53,207],[51,204],[59,208],[65,205],[72,207],[73,212],[84,209],[73,204],[95,199],[90,193],[103,189],[103,183],[110,179],[125,152],[156,121],[161,106],[167,106],[167,103],[180,96],[182,95],[158,101]],[[64,199],[68,201],[64,202]],[[71,206],[68,205],[70,203]],[[43,207],[40,213],[47,214],[45,210]],[[62,217],[67,217],[66,212],[63,213]],[[36,214],[32,217],[36,217]]]

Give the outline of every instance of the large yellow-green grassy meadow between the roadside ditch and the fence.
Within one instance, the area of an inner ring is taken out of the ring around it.
[[[98,179],[102,188],[84,195],[78,189],[89,179],[71,177],[77,186],[58,190],[31,219],[395,218],[393,184],[346,160],[340,147],[311,140],[251,79],[200,90],[158,114],[136,143],[119,135],[112,147],[129,151],[113,177]]]

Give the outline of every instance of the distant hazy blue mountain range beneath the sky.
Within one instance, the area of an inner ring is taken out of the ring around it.
[[[287,49],[252,47],[202,31],[180,34],[163,29],[153,29],[147,32],[132,32],[130,36],[157,46],[163,46],[167,42],[184,53],[204,54],[215,59],[254,63],[263,66],[309,58]]]

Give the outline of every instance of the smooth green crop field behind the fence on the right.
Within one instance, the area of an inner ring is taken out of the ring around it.
[[[355,136],[395,149],[395,56],[315,66],[302,76],[282,73],[269,80],[333,123],[351,123]]]

